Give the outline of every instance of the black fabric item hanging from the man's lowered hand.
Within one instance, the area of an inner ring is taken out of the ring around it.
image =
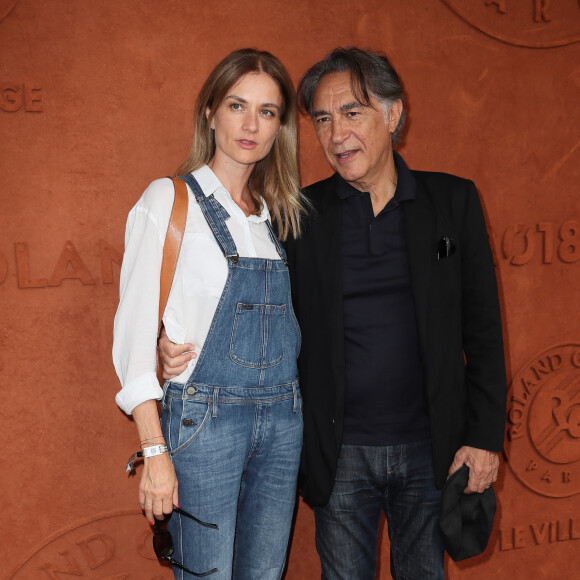
[[[469,467],[463,465],[445,482],[441,494],[439,529],[447,553],[458,562],[485,550],[495,517],[493,487],[465,494]]]

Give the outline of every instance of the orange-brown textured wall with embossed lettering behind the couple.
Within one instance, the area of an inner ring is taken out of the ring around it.
[[[0,0],[0,578],[169,579],[124,472],[112,323],[127,212],[187,155],[194,97],[256,46],[294,80],[337,45],[390,55],[409,165],[467,176],[493,240],[510,381],[499,510],[449,578],[580,566],[577,0]],[[302,123],[303,181],[329,172]],[[380,578],[388,578],[383,532]],[[319,577],[300,504],[288,579]]]

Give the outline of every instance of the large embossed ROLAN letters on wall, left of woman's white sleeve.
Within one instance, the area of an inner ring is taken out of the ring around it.
[[[18,288],[57,287],[61,286],[64,280],[78,280],[81,284],[89,286],[97,283],[97,279],[91,274],[85,260],[70,240],[65,242],[50,276],[46,270],[39,273],[32,269],[30,265],[32,251],[27,242],[14,244],[14,270]],[[118,271],[123,261],[123,254],[104,240],[99,240],[98,254],[101,282],[112,284],[114,280],[113,264],[116,265]],[[0,252],[0,285],[7,280],[9,271],[6,256]]]

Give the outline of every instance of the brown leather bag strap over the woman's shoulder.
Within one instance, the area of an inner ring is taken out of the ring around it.
[[[169,218],[169,227],[165,236],[163,245],[163,261],[161,262],[161,281],[159,293],[159,325],[157,333],[161,332],[161,320],[165,312],[167,298],[173,283],[177,258],[183,241],[183,232],[185,232],[185,222],[187,221],[188,193],[187,185],[183,179],[170,177],[175,187],[175,198],[173,200],[173,209]]]

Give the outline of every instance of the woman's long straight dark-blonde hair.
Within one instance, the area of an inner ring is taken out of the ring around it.
[[[282,93],[282,107],[280,131],[270,153],[256,163],[248,189],[256,208],[261,210],[260,197],[266,200],[272,223],[280,239],[285,240],[290,233],[294,237],[299,235],[300,215],[305,211],[305,201],[300,192],[294,87],[282,63],[269,52],[252,48],[236,50],[213,69],[197,98],[191,151],[178,173],[183,175],[195,171],[212,159],[215,137],[211,122],[217,109],[238,80],[257,72],[266,73],[278,85]]]

